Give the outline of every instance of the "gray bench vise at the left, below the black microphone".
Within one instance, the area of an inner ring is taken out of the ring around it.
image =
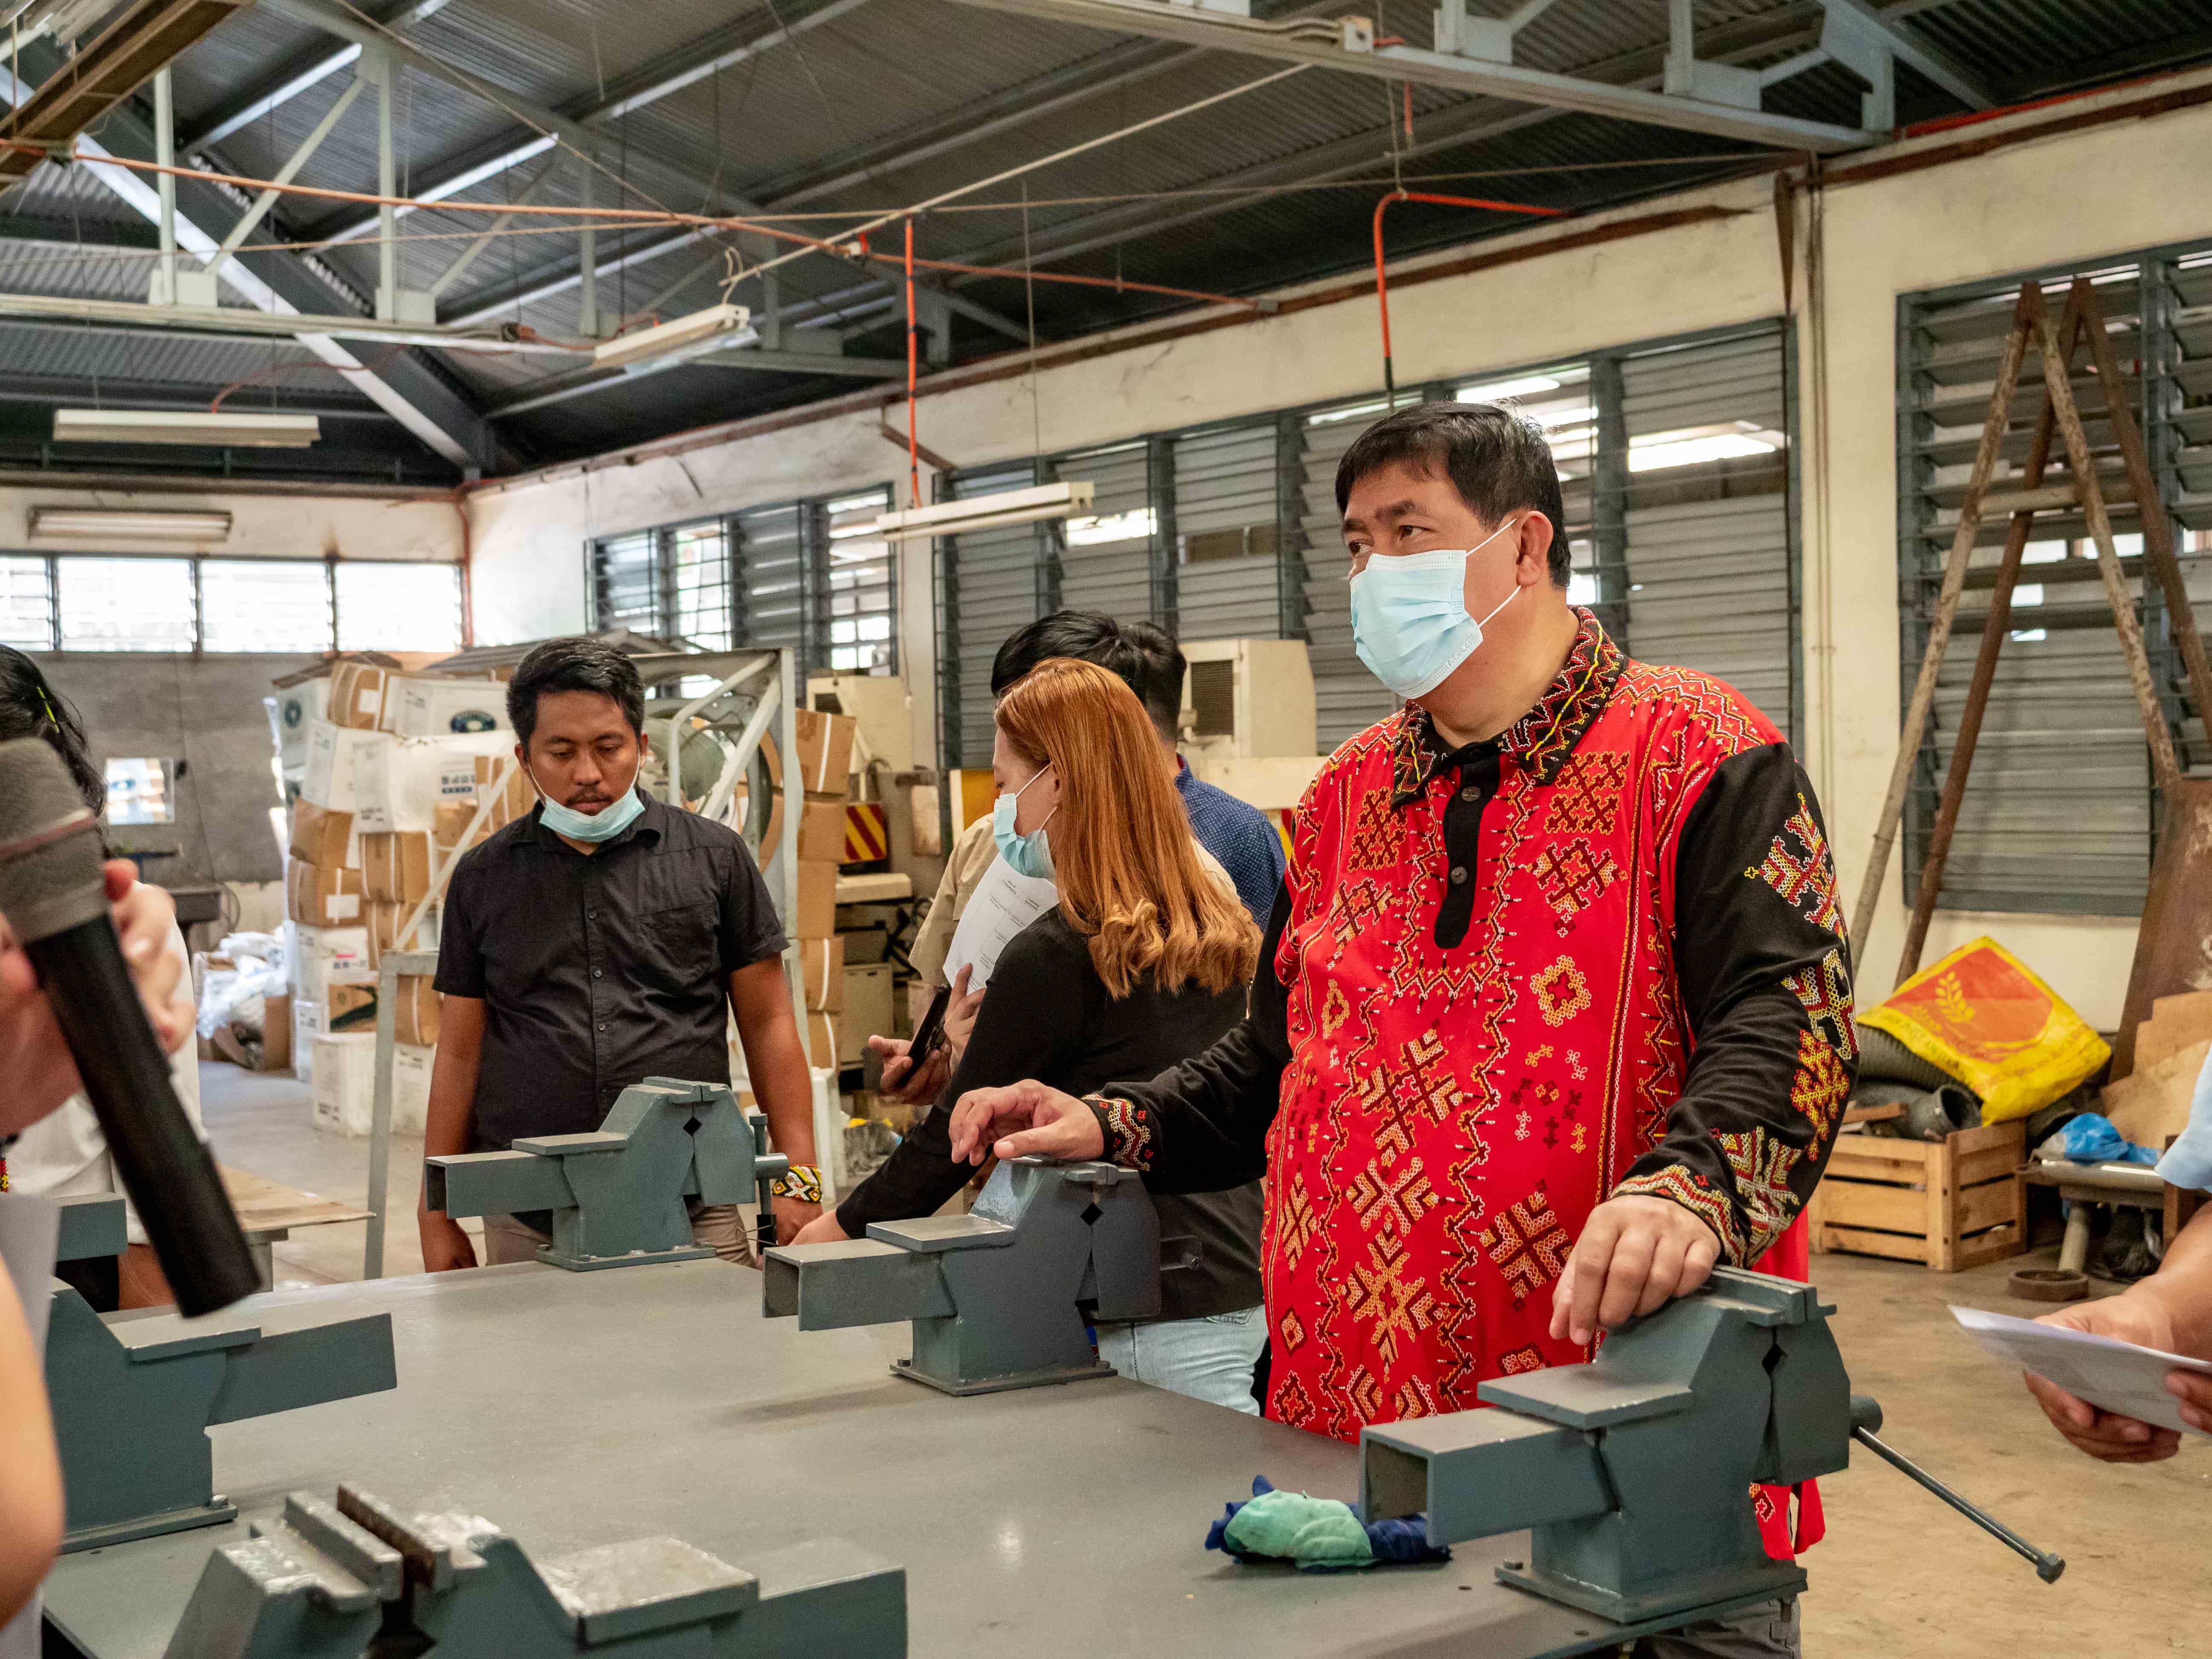
[[[122,1199],[64,1208],[64,1259],[122,1248]],[[64,1551],[217,1526],[237,1515],[215,1491],[208,1429],[217,1422],[398,1385],[389,1314],[279,1336],[248,1325],[131,1343],[137,1329],[139,1321],[128,1316],[106,1323],[75,1290],[53,1281],[46,1396],[62,1449]]]

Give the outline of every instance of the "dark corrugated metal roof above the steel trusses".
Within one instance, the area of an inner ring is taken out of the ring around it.
[[[1504,15],[1515,0],[1471,0],[1486,15]],[[1261,0],[1263,13],[1281,4]],[[1383,27],[1429,44],[1429,4],[1400,4]],[[438,175],[462,157],[495,155],[531,137],[500,106],[520,97],[564,113],[582,113],[608,88],[648,69],[664,69],[686,53],[805,18],[803,0],[453,0],[407,38],[493,93],[476,95],[405,69],[398,80],[403,188]],[[1812,0],[1699,0],[1697,24],[1721,31],[1728,58],[1759,66],[1776,62],[1818,29]],[[2212,0],[1949,0],[1913,11],[1902,24],[1984,75],[2006,97],[2070,86],[2084,77],[2143,73],[2183,55],[2212,55]],[[1712,35],[1708,35],[1712,38]],[[1515,42],[1515,60],[1557,73],[1608,80],[1657,75],[1666,46],[1666,9],[1655,0],[1575,0],[1535,18]],[[268,9],[246,9],[201,40],[175,66],[181,126],[190,131],[243,88],[327,58],[336,42]],[[1018,100],[1009,93],[1057,75],[1077,86],[1084,66],[1099,91],[1020,119],[1000,131],[971,111],[998,113]],[[1133,69],[1135,66],[1135,69]],[[1000,168],[1018,166],[1077,139],[1133,119],[1190,104],[1267,73],[1272,64],[1219,51],[1130,44],[1115,35],[945,4],[945,0],[867,0],[867,4],[796,40],[765,49],[712,77],[641,106],[606,131],[595,199],[608,204],[699,210],[714,201],[759,199],[790,190],[810,175],[852,170],[867,159],[878,177],[818,192],[810,212],[883,210],[898,201],[956,188]],[[1130,73],[1124,73],[1130,71]],[[219,159],[248,175],[268,175],[341,95],[352,71],[325,80],[263,119],[230,135]],[[1827,122],[1856,122],[1858,82],[1838,66],[1823,66],[1770,88],[1767,106]],[[1312,71],[1279,86],[1230,100],[1164,124],[1135,139],[1102,146],[1026,177],[1035,206],[1026,215],[1029,243],[1051,270],[1121,274],[1203,290],[1254,290],[1296,276],[1349,270],[1367,259],[1374,190],[1389,173],[1394,124],[1402,117],[1400,91],[1385,82]],[[1900,119],[1922,119],[1958,108],[1918,75],[1900,73]],[[1484,173],[1482,181],[1438,184],[1473,195],[1531,204],[1593,208],[1677,188],[1725,168],[1721,157],[1752,146],[1617,119],[1544,113],[1500,100],[1416,88],[1416,153],[1409,175]],[[975,128],[967,137],[962,126]],[[367,192],[376,186],[376,104],[356,102],[299,181],[332,190]],[[936,142],[949,148],[936,150]],[[907,159],[907,157],[914,159]],[[487,177],[465,201],[504,204],[535,177],[529,159]],[[1252,179],[1294,184],[1354,168],[1365,184],[1349,188],[1219,195]],[[1212,190],[1214,195],[1203,195]],[[1161,195],[1181,192],[1181,195]],[[925,257],[1009,263],[1022,257],[1022,186],[991,192],[998,210],[940,212],[918,228]],[[1135,201],[1117,197],[1141,197]],[[582,199],[577,164],[560,159],[535,201],[575,206]],[[1013,206],[1006,206],[1013,204]],[[978,201],[973,206],[987,206]],[[9,243],[7,217],[44,221],[44,243]],[[363,212],[336,201],[292,199],[279,223],[257,237],[296,237],[303,226],[332,226]],[[75,292],[100,296],[144,294],[148,261],[135,252],[71,252],[51,246],[53,223],[144,221],[82,170],[40,168],[0,197],[0,290]],[[418,212],[403,219],[400,281],[431,285],[467,241],[489,223],[484,215]],[[792,221],[810,234],[830,234],[836,219]],[[1442,246],[1506,228],[1511,221],[1407,206],[1389,219],[1394,252]],[[484,307],[513,292],[529,292],[575,268],[575,228],[518,221],[515,234],[491,243],[445,294],[447,314]],[[626,248],[653,246],[668,228],[599,234],[602,265]],[[1113,239],[1121,239],[1117,246]],[[1075,250],[1075,252],[1068,252]],[[376,248],[356,241],[319,254],[356,292],[376,283]],[[723,270],[723,239],[697,239],[641,257],[599,279],[602,316],[637,312],[684,276],[672,310],[712,303]],[[816,296],[865,290],[865,274],[830,259],[785,265],[785,305],[805,312]],[[960,279],[956,288],[1002,314],[1022,319],[1035,303],[1044,336],[1066,336],[1117,321],[1172,310],[1175,301],[1106,290],[1037,283],[1024,292],[1015,279]],[[549,336],[577,327],[577,288],[511,305],[502,316]],[[759,301],[757,285],[734,299]],[[889,352],[900,316],[860,310],[878,323],[854,349]],[[33,336],[9,332],[13,356]],[[1000,349],[1004,338],[969,321],[956,323],[964,352]],[[268,363],[259,343],[173,347],[115,341],[115,336],[35,336],[38,374],[115,374],[131,358],[153,378],[177,385],[219,385]],[[223,361],[219,361],[223,358]],[[29,358],[27,358],[29,361]],[[566,372],[555,358],[467,358],[445,354],[451,374],[480,398]],[[22,369],[31,374],[33,369]],[[334,385],[325,374],[323,389]],[[538,456],[595,449],[677,425],[730,418],[792,400],[849,389],[849,378],[799,378],[728,369],[672,369],[637,376],[622,387],[553,405],[509,422]]]

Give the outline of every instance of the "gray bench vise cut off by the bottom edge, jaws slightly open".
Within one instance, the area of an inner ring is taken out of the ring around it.
[[[675,1537],[544,1566],[482,1515],[400,1515],[358,1486],[290,1493],[201,1568],[168,1659],[905,1659],[907,1575],[845,1540],[743,1573]]]

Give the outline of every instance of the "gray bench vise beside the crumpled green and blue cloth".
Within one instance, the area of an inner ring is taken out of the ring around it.
[[[1615,1624],[1796,1595],[1754,1484],[1845,1467],[1851,1383],[1812,1285],[1717,1267],[1588,1365],[1491,1378],[1489,1411],[1360,1433],[1367,1520],[1427,1515],[1431,1544],[1531,1528],[1498,1577]]]

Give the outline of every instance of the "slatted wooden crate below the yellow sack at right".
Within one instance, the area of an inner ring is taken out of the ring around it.
[[[2026,1250],[2020,1166],[2026,1124],[1962,1128],[1942,1141],[1840,1135],[1812,1194],[1814,1252],[1980,1267]]]

